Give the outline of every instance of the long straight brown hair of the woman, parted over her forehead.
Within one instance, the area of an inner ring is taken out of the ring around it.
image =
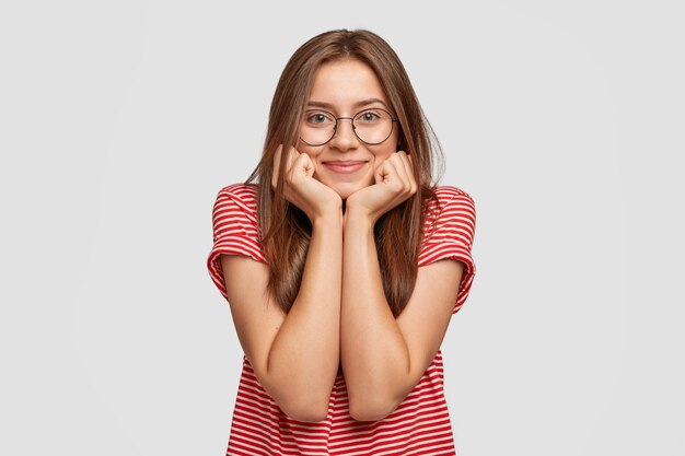
[[[416,284],[423,208],[433,194],[433,167],[441,164],[437,163],[442,157],[440,143],[390,45],[364,30],[330,31],[302,45],[286,65],[271,101],[262,160],[246,180],[258,183],[258,225],[270,268],[268,287],[286,313],[300,290],[312,226],[306,215],[283,197],[282,177],[272,190],[274,154],[280,144],[298,143],[300,120],[318,67],[350,58],[368,65],[381,81],[399,119],[398,144],[413,156],[414,177],[419,184],[415,196],[386,212],[374,226],[383,289],[395,316],[407,305]],[[280,163],[279,176],[283,176],[286,161]]]

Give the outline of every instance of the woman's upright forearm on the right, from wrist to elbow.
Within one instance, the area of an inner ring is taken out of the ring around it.
[[[409,352],[383,291],[372,223],[348,213],[344,239],[340,354],[350,411],[390,412],[404,398]]]

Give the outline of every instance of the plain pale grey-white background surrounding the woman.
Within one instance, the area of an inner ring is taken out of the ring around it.
[[[224,454],[211,206],[295,48],[368,27],[477,204],[458,454],[685,455],[683,9],[432,3],[2,3],[1,454]]]

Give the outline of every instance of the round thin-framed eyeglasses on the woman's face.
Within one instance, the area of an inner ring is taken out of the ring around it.
[[[304,112],[300,127],[300,139],[309,145],[324,145],[335,137],[338,120],[352,121],[352,131],[363,143],[375,145],[385,141],[393,133],[393,126],[398,120],[385,109],[370,108],[352,117],[336,117],[322,109]]]

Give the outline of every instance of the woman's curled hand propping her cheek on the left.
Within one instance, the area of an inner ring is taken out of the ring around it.
[[[334,211],[341,213],[340,196],[313,177],[316,165],[312,159],[292,147],[286,154],[282,151],[283,147],[279,145],[274,155],[271,188],[276,190],[278,187],[280,161],[285,157],[282,191],[288,201],[300,208],[312,223]]]

